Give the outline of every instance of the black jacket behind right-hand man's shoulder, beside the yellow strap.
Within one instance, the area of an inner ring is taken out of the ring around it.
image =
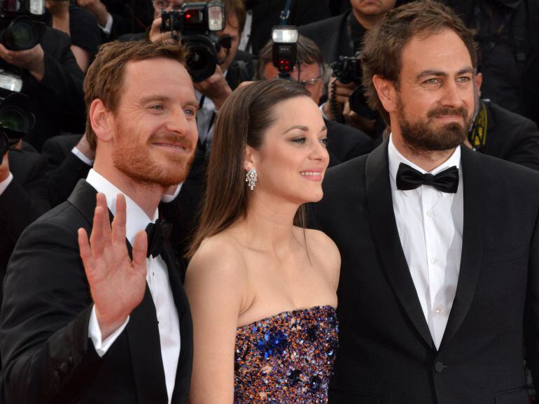
[[[486,108],[486,142],[479,151],[539,170],[537,124],[496,103],[482,103]]]

